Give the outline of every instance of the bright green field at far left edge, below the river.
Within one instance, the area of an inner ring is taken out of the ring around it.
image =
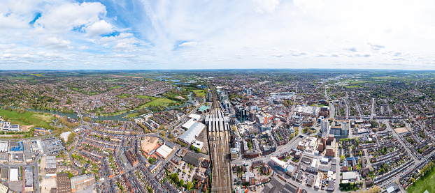
[[[54,118],[54,116],[51,115],[42,115],[42,114],[36,114],[31,111],[27,111],[24,114],[20,114],[15,111],[8,111],[5,109],[0,109],[0,116],[6,116],[8,120],[12,124],[20,124],[20,125],[38,125],[44,128],[48,128],[48,125],[50,121]],[[23,118],[26,118],[27,121],[29,121],[30,124],[24,123],[23,121],[20,121],[19,118],[22,116]]]

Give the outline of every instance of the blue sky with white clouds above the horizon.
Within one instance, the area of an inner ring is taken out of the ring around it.
[[[435,1],[2,0],[0,70],[435,70]]]

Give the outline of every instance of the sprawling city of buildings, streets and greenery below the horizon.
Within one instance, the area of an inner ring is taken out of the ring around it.
[[[0,72],[3,192],[425,192],[435,73]]]

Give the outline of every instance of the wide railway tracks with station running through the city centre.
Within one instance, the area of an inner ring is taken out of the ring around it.
[[[210,144],[213,164],[211,192],[231,193],[229,117],[224,116],[215,89],[210,84],[208,84],[208,88],[211,88],[213,95],[213,105],[210,113],[206,116],[208,144]]]

